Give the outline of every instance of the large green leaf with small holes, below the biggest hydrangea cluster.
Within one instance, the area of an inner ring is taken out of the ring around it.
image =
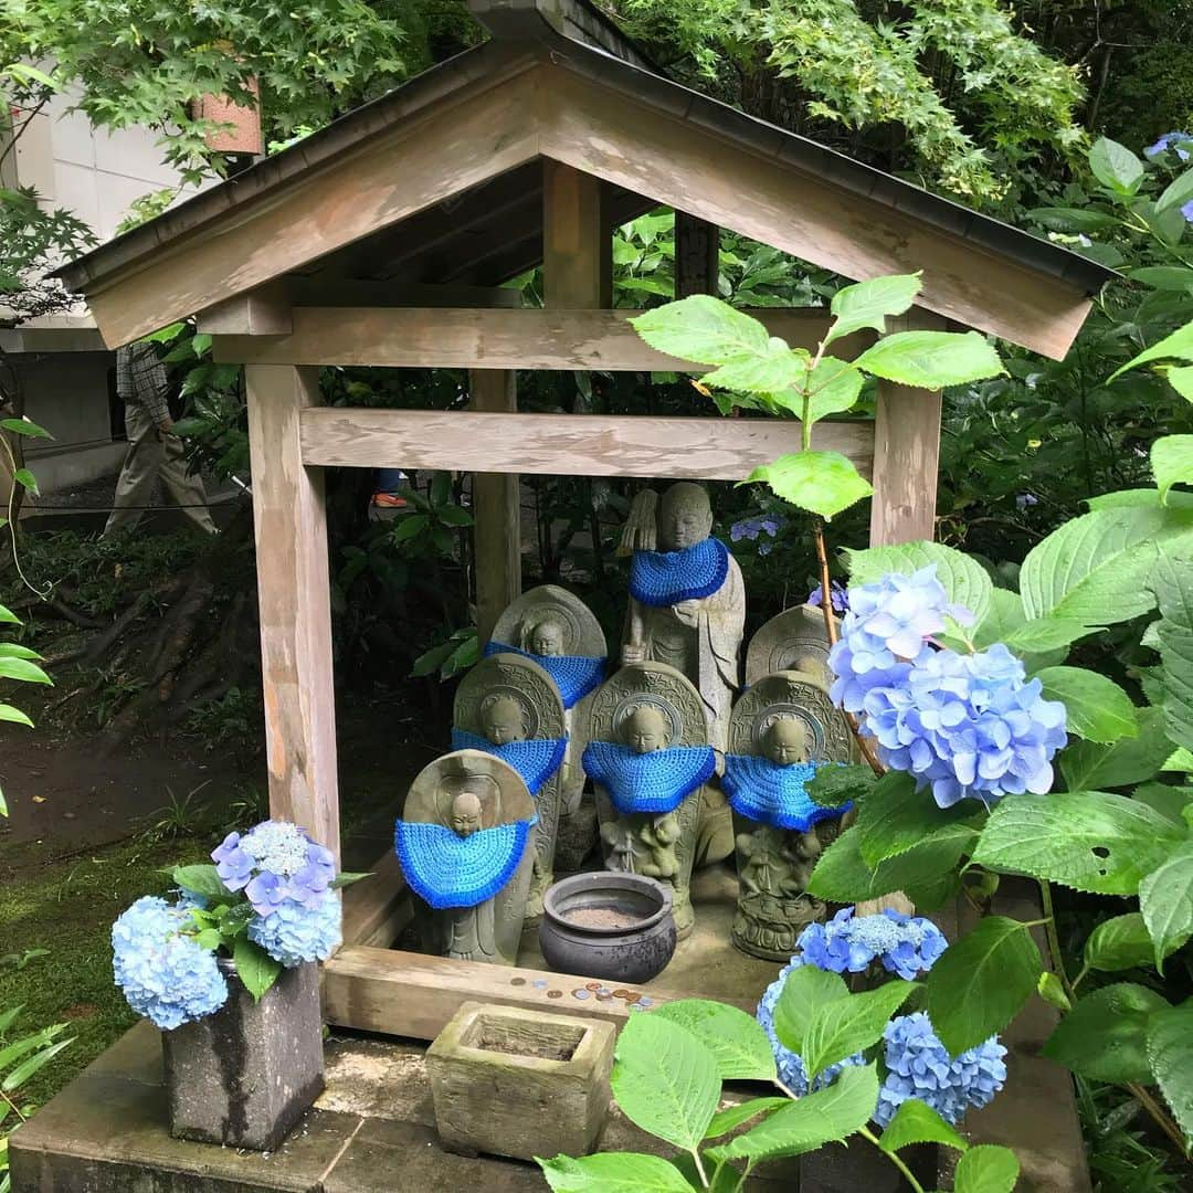
[[[973,861],[1094,895],[1133,895],[1183,839],[1172,821],[1126,796],[1008,796],[990,814]]]

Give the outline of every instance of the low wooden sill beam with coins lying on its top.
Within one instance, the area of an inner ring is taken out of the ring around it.
[[[546,979],[545,987],[533,984],[543,979]],[[573,995],[573,990],[582,989],[591,981],[571,973],[351,945],[323,965],[323,1018],[336,1027],[432,1040],[462,1003],[493,1002],[502,1007],[605,1019],[620,1027],[631,1014],[631,1005],[624,999],[581,1001]],[[643,989],[649,990],[655,1006],[694,997],[679,991],[656,990],[649,984],[645,988],[632,987],[635,991]],[[554,997],[552,991],[556,991]],[[754,1013],[753,1002],[734,1005]]]

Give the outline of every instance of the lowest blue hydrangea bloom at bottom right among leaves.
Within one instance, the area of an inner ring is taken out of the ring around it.
[[[997,1037],[950,1056],[923,1012],[892,1019],[884,1036],[888,1074],[874,1112],[879,1126],[886,1126],[909,1098],[958,1123],[971,1106],[985,1106],[1007,1080],[1007,1050]]]

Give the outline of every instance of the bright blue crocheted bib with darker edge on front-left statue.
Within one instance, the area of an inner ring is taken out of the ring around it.
[[[476,907],[513,877],[533,820],[457,836],[445,824],[398,821],[394,848],[406,880],[435,910]]]

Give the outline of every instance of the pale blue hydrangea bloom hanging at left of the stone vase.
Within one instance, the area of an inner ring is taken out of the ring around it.
[[[228,983],[215,953],[193,937],[186,908],[146,896],[112,925],[112,969],[129,1006],[162,1031],[173,1031],[218,1010]]]

